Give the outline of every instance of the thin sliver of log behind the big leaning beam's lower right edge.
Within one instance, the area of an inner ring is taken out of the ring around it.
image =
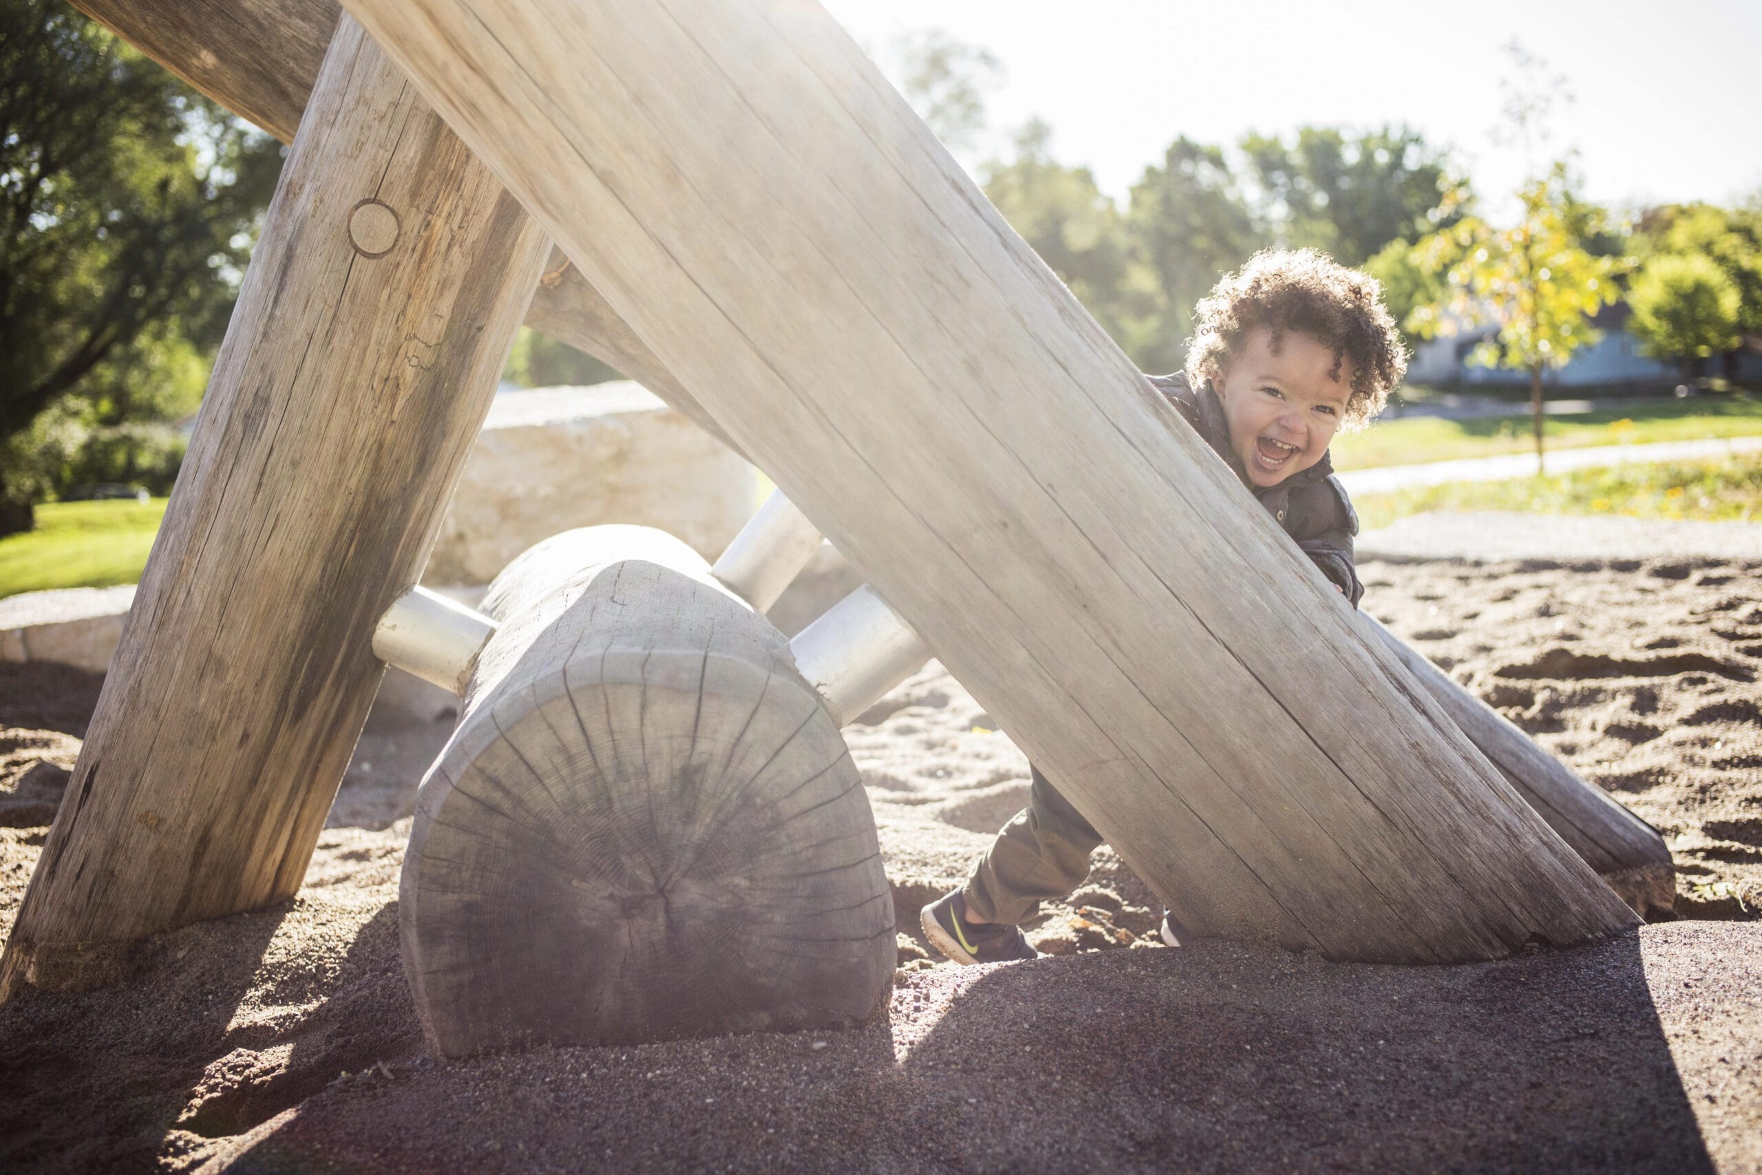
[[[1602,787],[1584,782],[1505,715],[1457,685],[1376,617],[1360,622],[1394,652],[1517,794],[1602,876],[1640,918],[1669,918],[1676,865],[1658,830]]]

